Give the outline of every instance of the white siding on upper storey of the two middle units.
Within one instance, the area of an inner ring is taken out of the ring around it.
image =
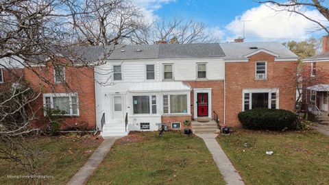
[[[197,63],[207,64],[207,79],[224,79],[225,63],[223,59],[175,59],[175,60],[127,60],[108,61],[107,64],[97,66],[96,79],[106,82],[112,76],[113,65],[121,64],[122,80],[114,82],[160,82],[163,78],[163,64],[173,64],[173,76],[176,81],[191,81],[197,79]],[[155,79],[146,79],[146,65],[154,64]],[[111,77],[112,81],[112,77]],[[112,81],[113,82],[113,81]]]

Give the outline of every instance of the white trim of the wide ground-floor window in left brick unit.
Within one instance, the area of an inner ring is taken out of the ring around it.
[[[70,114],[63,114],[63,116],[80,116],[80,103],[79,96],[77,93],[45,93],[42,95],[43,98],[43,108],[44,108],[44,116],[47,116],[47,108],[46,108],[46,97],[50,97],[51,108],[53,109],[53,97],[69,97],[70,103]],[[77,97],[77,114],[73,114],[72,110],[72,97]]]

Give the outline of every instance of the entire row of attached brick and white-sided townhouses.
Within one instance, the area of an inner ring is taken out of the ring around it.
[[[24,70],[25,79],[42,88],[35,105],[43,108],[40,119],[44,108],[60,109],[63,130],[87,125],[111,136],[158,130],[159,123],[180,130],[191,127],[186,120],[214,117],[236,126],[239,112],[258,107],[294,110],[295,88],[282,76],[295,73],[297,56],[278,42],[128,45],[101,58],[103,50],[112,48],[79,47],[87,65],[57,58],[55,68],[53,61],[34,66],[49,83]]]

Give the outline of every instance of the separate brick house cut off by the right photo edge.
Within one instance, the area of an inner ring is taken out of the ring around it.
[[[317,115],[319,121],[329,123],[329,36],[323,37],[321,54],[306,58],[302,62],[304,68],[309,71],[303,76],[303,81],[308,79],[309,82],[306,92],[303,93],[305,108]]]

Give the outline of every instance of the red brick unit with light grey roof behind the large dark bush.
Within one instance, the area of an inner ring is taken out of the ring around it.
[[[227,125],[239,125],[237,114],[256,107],[295,110],[295,53],[278,42],[232,42],[221,47],[226,53]]]

